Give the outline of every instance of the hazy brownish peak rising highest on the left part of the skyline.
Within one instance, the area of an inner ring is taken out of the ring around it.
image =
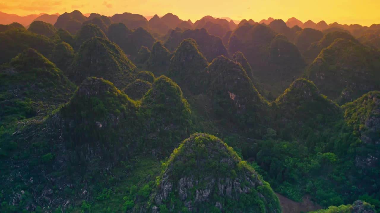
[[[59,29],[65,29],[72,34],[75,34],[82,26],[82,23],[87,20],[86,16],[83,16],[78,10],[74,10],[71,13],[63,13],[54,23],[54,27]]]

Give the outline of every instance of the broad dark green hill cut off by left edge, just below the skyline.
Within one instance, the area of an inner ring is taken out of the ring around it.
[[[49,55],[54,43],[46,36],[27,31],[26,29],[13,28],[0,33],[0,64],[10,61],[22,51],[33,48],[43,55]]]

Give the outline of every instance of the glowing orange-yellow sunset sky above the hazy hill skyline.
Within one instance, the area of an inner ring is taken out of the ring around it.
[[[351,3],[348,3],[351,2]],[[325,20],[327,23],[380,23],[380,0],[0,0],[0,11],[18,15],[64,13],[78,9],[82,13],[138,13],[143,16],[173,13],[180,19],[200,19],[205,15],[253,19],[273,17],[286,21],[296,17],[302,22]]]

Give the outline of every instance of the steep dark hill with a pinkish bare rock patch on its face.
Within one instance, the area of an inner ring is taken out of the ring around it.
[[[215,58],[206,68],[205,87],[211,98],[213,114],[229,119],[241,128],[255,128],[268,114],[268,103],[253,86],[241,64],[224,56]],[[258,114],[261,116],[258,116]]]

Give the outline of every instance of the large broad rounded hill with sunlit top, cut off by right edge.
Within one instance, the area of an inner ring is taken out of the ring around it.
[[[336,39],[307,69],[321,92],[338,103],[380,89],[380,53],[356,40]]]

